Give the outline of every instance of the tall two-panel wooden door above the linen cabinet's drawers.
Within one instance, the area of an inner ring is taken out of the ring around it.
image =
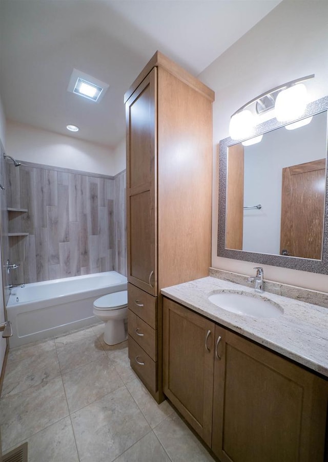
[[[157,294],[157,69],[126,103],[128,280]]]

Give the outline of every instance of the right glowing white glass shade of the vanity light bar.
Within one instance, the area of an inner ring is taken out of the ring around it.
[[[282,90],[276,99],[275,115],[279,122],[299,119],[308,104],[308,93],[303,83]]]

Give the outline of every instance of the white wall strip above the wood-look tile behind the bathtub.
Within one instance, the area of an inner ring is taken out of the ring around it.
[[[6,152],[27,162],[115,175],[117,160],[110,148],[52,131],[7,121]]]

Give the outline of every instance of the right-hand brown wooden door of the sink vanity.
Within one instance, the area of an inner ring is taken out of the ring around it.
[[[323,462],[327,382],[215,329],[214,453],[222,462]]]

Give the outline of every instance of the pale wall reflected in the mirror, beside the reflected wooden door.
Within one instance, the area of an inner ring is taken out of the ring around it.
[[[280,254],[282,169],[324,159],[326,131],[323,112],[309,125],[294,130],[281,127],[263,135],[260,143],[244,146],[244,205],[262,208],[244,210],[242,250]]]

